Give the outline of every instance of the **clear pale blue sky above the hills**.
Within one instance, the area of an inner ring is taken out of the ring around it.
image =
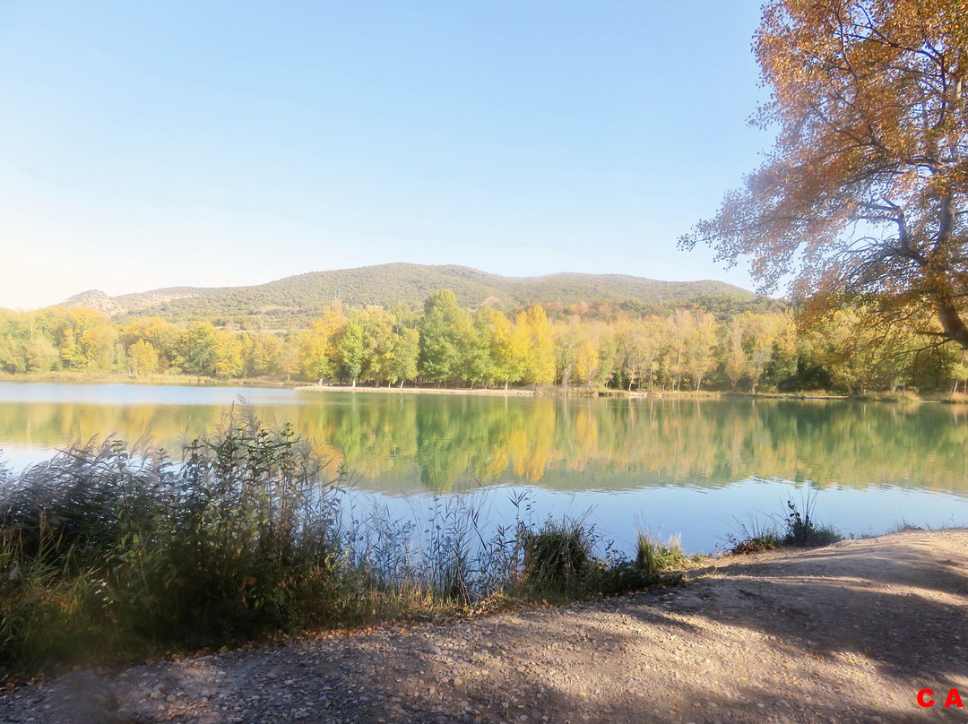
[[[720,279],[759,3],[0,0],[0,306],[390,261]]]

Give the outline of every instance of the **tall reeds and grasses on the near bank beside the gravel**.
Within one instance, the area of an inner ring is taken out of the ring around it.
[[[178,459],[109,438],[0,467],[0,666],[27,676],[615,594],[686,559],[677,541],[645,537],[628,558],[585,518],[535,520],[524,495],[505,526],[472,497],[394,519],[323,463],[287,426],[236,407]]]

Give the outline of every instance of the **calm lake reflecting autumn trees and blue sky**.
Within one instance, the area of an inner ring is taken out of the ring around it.
[[[460,497],[506,522],[525,494],[535,520],[590,511],[626,551],[642,529],[711,552],[814,490],[818,519],[844,534],[968,525],[968,407],[936,403],[0,382],[2,459],[19,468],[110,434],[177,452],[241,398],[317,440],[395,517]]]

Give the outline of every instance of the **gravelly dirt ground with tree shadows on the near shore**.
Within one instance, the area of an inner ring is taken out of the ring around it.
[[[968,530],[725,558],[682,587],[82,672],[0,721],[968,722]],[[918,691],[935,692],[923,709]]]

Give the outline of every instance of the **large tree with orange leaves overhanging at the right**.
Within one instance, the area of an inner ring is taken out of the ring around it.
[[[681,246],[968,347],[968,0],[771,0],[754,51],[776,145]]]

